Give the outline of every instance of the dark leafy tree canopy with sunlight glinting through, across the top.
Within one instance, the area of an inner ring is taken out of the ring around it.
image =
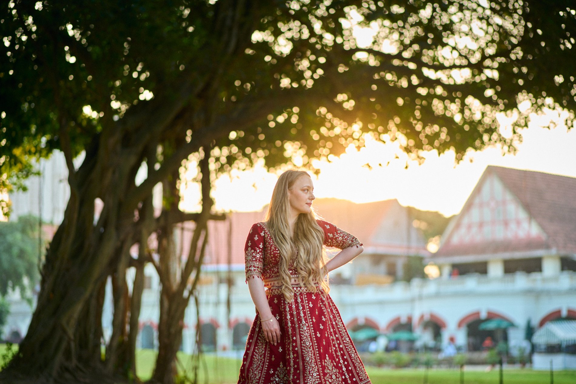
[[[518,102],[533,108],[519,114],[517,127],[530,111],[574,111],[569,2],[292,1],[258,8],[8,2],[0,19],[2,186],[26,174],[30,156],[57,148],[74,157],[107,130],[136,116],[151,123],[178,103],[188,103],[186,111],[161,136],[190,140],[210,104],[213,119],[228,118],[218,138],[221,146],[232,143],[230,159],[222,158],[229,164],[242,156],[274,164],[292,143],[306,158],[338,154],[343,145],[361,145],[361,132],[401,139],[415,154],[452,148],[460,159],[495,142],[513,150],[516,131],[503,137],[495,113],[511,113]],[[242,27],[224,32],[225,22]],[[357,39],[358,31],[372,38]],[[238,40],[247,44],[234,51]]]

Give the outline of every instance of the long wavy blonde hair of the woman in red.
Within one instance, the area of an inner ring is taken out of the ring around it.
[[[328,272],[326,267],[328,259],[322,246],[324,231],[316,222],[313,209],[309,214],[298,215],[294,223],[294,233],[290,236],[288,191],[301,176],[310,177],[308,173],[301,170],[287,170],[281,174],[272,192],[272,199],[266,214],[268,231],[280,251],[281,289],[288,302],[293,298],[289,273],[289,265],[293,257],[295,257],[294,267],[299,275],[300,283],[313,292],[317,291],[317,283],[325,292],[330,290],[327,279],[322,278]]]

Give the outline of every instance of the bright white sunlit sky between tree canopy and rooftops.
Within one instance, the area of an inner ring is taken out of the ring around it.
[[[356,203],[397,199],[405,206],[449,216],[460,211],[488,165],[576,177],[576,130],[569,131],[563,125],[552,130],[539,127],[544,120],[534,118],[529,128],[522,131],[524,140],[516,155],[502,156],[498,147],[490,147],[470,153],[458,165],[454,163],[454,153],[438,156],[433,151],[425,154],[423,165],[408,161],[405,169],[407,155],[397,145],[368,138],[365,147],[348,147],[332,162],[312,163],[320,169],[320,176],[313,179],[314,193],[316,197],[337,197]],[[399,159],[395,159],[396,154]],[[388,161],[390,164],[385,166]],[[222,176],[215,181],[216,207],[224,211],[260,210],[270,200],[276,180],[277,176],[261,165]],[[181,208],[195,210],[197,201],[197,189],[189,188],[184,192]]]

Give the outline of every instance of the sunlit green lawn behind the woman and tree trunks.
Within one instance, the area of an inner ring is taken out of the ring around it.
[[[6,346],[0,344],[0,366]],[[152,375],[156,352],[150,349],[141,349],[137,355],[138,376],[147,380]],[[241,357],[241,355],[239,355]],[[191,356],[179,352],[179,370],[191,374]],[[236,384],[241,361],[239,359],[224,358],[222,356],[204,355],[199,370],[199,384]],[[366,367],[373,384],[422,384],[425,371],[422,368],[386,369]],[[465,370],[465,384],[498,384],[498,369],[490,372],[484,370]],[[532,371],[526,369],[505,369],[503,372],[504,384],[548,384],[550,372]],[[457,369],[431,369],[428,374],[428,384],[459,384],[460,371]],[[576,383],[576,371],[554,372],[554,384]]]

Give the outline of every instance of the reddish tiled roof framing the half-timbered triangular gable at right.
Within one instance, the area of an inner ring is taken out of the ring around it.
[[[495,175],[503,186],[517,199],[518,203],[541,228],[544,238],[503,239],[502,241],[451,245],[449,238],[458,226],[460,218],[476,198],[489,176]],[[442,235],[442,245],[434,258],[476,258],[490,254],[506,254],[508,257],[527,257],[534,252],[550,254],[576,254],[576,178],[559,176],[501,166],[488,166],[462,211]],[[524,256],[522,256],[524,255]],[[532,256],[537,256],[536,253]],[[541,255],[540,255],[541,256]],[[464,260],[464,259],[463,259]],[[460,260],[460,261],[463,261]],[[473,260],[470,260],[473,261]],[[479,261],[479,260],[476,260]]]

